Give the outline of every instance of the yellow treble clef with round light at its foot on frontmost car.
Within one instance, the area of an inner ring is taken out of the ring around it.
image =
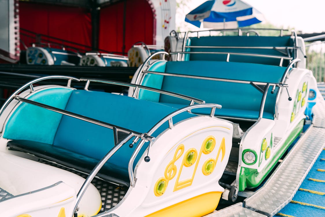
[[[177,173],[177,167],[175,165],[175,162],[183,155],[184,149],[184,144],[180,144],[177,147],[173,159],[167,164],[167,167],[164,172],[164,177],[159,178],[156,182],[154,187],[154,193],[157,197],[162,196],[163,193],[165,193],[168,186],[168,182],[175,177]]]

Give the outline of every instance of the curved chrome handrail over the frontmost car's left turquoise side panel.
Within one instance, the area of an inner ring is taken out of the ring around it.
[[[0,116],[2,115],[3,111],[6,109],[6,107],[8,106],[8,104],[14,99],[14,97],[23,89],[27,88],[28,86],[31,89],[31,92],[34,91],[34,87],[33,84],[39,81],[43,81],[43,80],[48,80],[48,79],[67,79],[68,80],[68,84],[67,87],[70,87],[71,85],[71,81],[80,81],[80,79],[72,77],[72,76],[65,76],[65,75],[50,75],[50,76],[45,76],[45,77],[40,77],[40,78],[36,78],[30,82],[27,82],[26,84],[24,84],[22,87],[20,87],[19,89],[17,89],[15,92],[13,92],[11,94],[11,96],[6,100],[6,102],[2,105],[1,109],[0,109]]]

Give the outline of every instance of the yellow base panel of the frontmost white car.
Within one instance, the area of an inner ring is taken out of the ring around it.
[[[208,192],[196,197],[181,201],[145,217],[187,216],[201,217],[215,210],[222,192]]]

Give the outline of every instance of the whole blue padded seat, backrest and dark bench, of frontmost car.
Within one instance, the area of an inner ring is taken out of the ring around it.
[[[20,106],[24,106],[24,104]],[[33,105],[28,106],[26,109],[39,109]],[[164,116],[176,110],[160,103],[86,90],[73,90],[65,109],[143,133],[148,132]],[[52,115],[55,114],[54,112],[51,113]],[[176,115],[173,119],[177,123],[193,116],[196,115],[185,112]],[[19,126],[18,122],[15,124]],[[159,135],[167,128],[168,123],[163,124],[154,132],[153,136]],[[10,131],[10,129],[6,130]],[[18,139],[8,142],[8,146],[88,173],[114,147],[112,129],[66,115],[63,115],[60,120],[53,144],[24,140],[22,137]],[[129,186],[128,163],[138,144],[136,143],[133,148],[129,148],[128,144],[131,142],[132,139],[108,160],[103,169],[99,171],[99,177],[113,183]],[[146,148],[147,145],[144,145],[136,157],[135,164]],[[133,166],[135,167],[135,165]]]

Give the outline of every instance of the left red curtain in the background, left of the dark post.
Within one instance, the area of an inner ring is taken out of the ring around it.
[[[91,46],[91,15],[85,8],[19,2],[19,24],[38,34]]]

